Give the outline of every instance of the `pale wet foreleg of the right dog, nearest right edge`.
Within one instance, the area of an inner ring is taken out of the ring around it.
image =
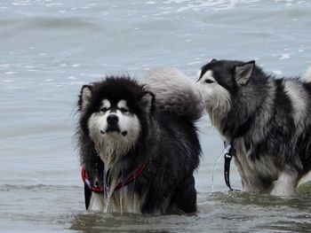
[[[277,181],[273,183],[271,195],[275,196],[295,196],[298,194],[295,189],[298,174],[295,171],[283,171]]]

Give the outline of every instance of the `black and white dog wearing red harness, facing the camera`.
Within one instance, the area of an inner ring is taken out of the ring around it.
[[[143,82],[108,76],[81,89],[76,136],[86,208],[193,213],[202,97],[173,68]]]

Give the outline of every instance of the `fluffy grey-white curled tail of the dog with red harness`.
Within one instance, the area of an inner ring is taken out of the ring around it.
[[[201,92],[176,68],[152,70],[141,82],[156,94],[156,105],[160,110],[177,113],[189,120],[202,117],[204,104]]]

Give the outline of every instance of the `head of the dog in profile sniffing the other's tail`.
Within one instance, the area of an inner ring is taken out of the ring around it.
[[[197,84],[203,92],[206,111],[218,125],[232,107],[232,97],[245,87],[255,62],[212,59],[197,74]]]

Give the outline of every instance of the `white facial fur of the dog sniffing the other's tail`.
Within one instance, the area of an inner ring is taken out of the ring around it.
[[[210,80],[212,83],[207,83]],[[212,71],[208,70],[196,82],[203,95],[203,101],[211,123],[220,129],[220,121],[227,115],[231,108],[230,93],[215,81]]]

